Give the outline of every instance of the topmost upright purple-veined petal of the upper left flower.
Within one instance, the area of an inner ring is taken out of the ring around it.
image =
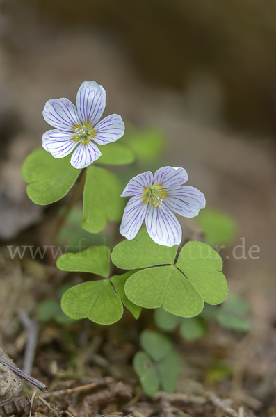
[[[106,107],[106,90],[95,81],[84,81],[76,95],[76,107],[81,123],[94,126]]]

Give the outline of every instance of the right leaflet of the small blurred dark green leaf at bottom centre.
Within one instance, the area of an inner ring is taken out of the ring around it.
[[[157,364],[163,390],[173,393],[177,385],[177,377],[181,368],[179,354],[172,350]]]

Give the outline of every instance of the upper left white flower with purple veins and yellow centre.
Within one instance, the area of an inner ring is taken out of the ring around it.
[[[76,106],[68,99],[49,100],[43,116],[55,127],[42,136],[42,146],[54,158],[73,152],[71,165],[85,168],[99,159],[102,152],[95,145],[115,142],[124,134],[124,123],[119,115],[99,119],[106,107],[106,92],[95,81],[85,81],[76,95]]]

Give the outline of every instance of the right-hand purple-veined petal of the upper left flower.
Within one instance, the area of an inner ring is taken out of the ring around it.
[[[124,134],[124,122],[121,116],[110,115],[97,123],[94,129],[94,142],[98,145],[106,145],[106,143],[115,142],[122,138]]]

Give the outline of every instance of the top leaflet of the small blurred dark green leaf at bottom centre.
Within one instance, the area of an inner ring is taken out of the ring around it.
[[[150,330],[143,330],[141,332],[140,343],[154,361],[159,361],[172,349],[172,342],[168,336]]]

